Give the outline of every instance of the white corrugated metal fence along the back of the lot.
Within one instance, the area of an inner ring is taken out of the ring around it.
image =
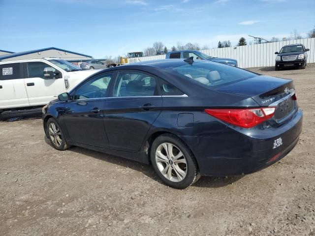
[[[237,59],[238,66],[241,68],[274,66],[277,56],[275,52],[279,52],[284,45],[295,43],[302,43],[306,48],[309,48],[310,51],[307,52],[307,61],[308,63],[315,63],[315,38],[303,38],[229,48],[215,48],[201,50],[201,52],[213,57]],[[128,59],[128,63],[157,59],[165,59],[165,55],[131,58]]]

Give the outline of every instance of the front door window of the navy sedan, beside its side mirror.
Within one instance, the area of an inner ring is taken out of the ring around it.
[[[112,74],[106,74],[89,80],[75,91],[74,100],[106,97],[111,78]]]

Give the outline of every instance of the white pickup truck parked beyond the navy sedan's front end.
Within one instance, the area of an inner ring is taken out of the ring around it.
[[[46,105],[97,71],[54,58],[0,61],[0,114]]]

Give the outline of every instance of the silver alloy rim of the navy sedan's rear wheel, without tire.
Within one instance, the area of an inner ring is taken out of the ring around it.
[[[160,173],[170,181],[182,181],[187,175],[187,161],[183,152],[171,143],[162,143],[156,150]]]

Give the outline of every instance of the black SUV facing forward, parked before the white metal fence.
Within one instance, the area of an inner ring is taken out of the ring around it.
[[[275,70],[280,70],[282,67],[298,66],[305,69],[307,65],[307,51],[303,44],[290,44],[282,47],[280,52],[275,52],[276,57]]]

